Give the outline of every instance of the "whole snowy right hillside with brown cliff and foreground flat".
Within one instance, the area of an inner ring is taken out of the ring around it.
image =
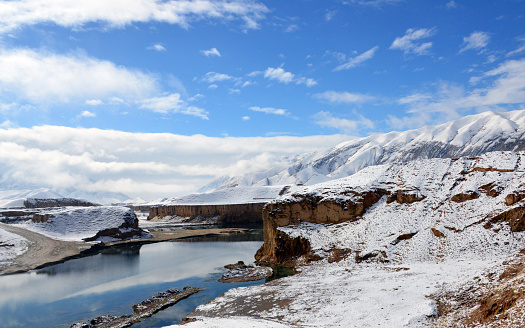
[[[213,326],[215,317],[253,317],[254,327],[261,320],[260,326],[433,327],[449,312],[466,318],[455,326],[479,327],[470,313],[484,297],[489,310],[479,317],[487,327],[506,313],[521,317],[522,280],[506,285],[507,297],[491,299],[481,287],[500,290],[507,281],[501,274],[523,261],[524,178],[525,152],[498,151],[373,166],[290,188],[264,209],[265,241],[256,257],[300,273],[228,291],[197,308],[190,316],[198,321],[188,327]],[[513,302],[503,303],[509,295]],[[465,298],[470,303],[454,303]],[[519,327],[507,323],[499,326]]]

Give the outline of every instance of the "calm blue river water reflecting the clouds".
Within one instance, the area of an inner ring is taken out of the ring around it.
[[[0,276],[0,327],[69,327],[103,314],[131,314],[133,304],[169,288],[203,289],[133,328],[177,324],[230,288],[264,282],[217,282],[225,264],[253,262],[261,245],[253,233],[135,245]]]

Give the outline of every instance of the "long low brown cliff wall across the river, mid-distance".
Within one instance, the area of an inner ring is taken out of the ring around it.
[[[217,218],[218,223],[262,223],[263,207],[264,203],[153,206],[148,220],[180,216]]]

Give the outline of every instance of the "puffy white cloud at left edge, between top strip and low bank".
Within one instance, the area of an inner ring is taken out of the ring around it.
[[[83,54],[59,55],[30,49],[0,50],[0,90],[32,103],[137,99],[157,92],[150,74]]]

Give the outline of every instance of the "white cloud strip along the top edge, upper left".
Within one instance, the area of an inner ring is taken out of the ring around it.
[[[203,19],[242,20],[245,29],[256,29],[268,12],[264,4],[250,0],[2,1],[0,33],[47,23],[79,28],[88,23],[124,27],[133,23],[163,22],[188,28],[190,22]]]

